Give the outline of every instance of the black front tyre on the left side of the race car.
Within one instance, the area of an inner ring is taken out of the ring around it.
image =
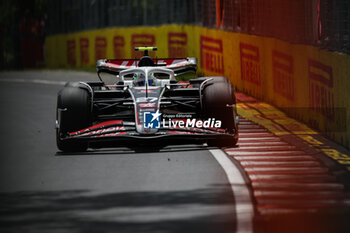
[[[86,151],[87,142],[62,140],[67,133],[87,128],[91,125],[91,96],[88,90],[77,86],[64,87],[57,96],[56,142],[63,152]]]

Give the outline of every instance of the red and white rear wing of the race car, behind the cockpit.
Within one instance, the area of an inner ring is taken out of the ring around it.
[[[138,59],[100,59],[96,61],[97,73],[106,72],[118,75],[120,71],[136,68],[139,65]],[[197,71],[197,58],[157,58],[153,59],[154,66],[161,66],[171,69],[175,74]]]

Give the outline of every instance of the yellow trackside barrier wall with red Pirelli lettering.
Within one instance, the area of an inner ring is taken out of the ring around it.
[[[206,75],[226,76],[238,90],[350,147],[350,56],[313,46],[190,25],[108,28],[46,38],[50,68],[93,67],[99,58],[194,56]],[[274,116],[271,116],[274,117]]]

